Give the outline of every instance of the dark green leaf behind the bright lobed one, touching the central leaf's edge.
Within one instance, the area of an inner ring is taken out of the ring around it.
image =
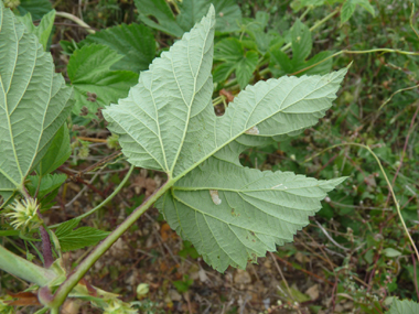
[[[121,24],[88,35],[85,43],[100,44],[110,47],[123,58],[111,66],[111,69],[125,69],[140,73],[148,69],[155,55],[155,41],[150,29],[140,24]]]

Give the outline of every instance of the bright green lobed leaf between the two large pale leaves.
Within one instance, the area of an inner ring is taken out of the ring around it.
[[[109,69],[121,58],[111,48],[96,44],[73,53],[67,72],[75,91],[75,115],[85,106],[89,110],[86,117],[95,118],[98,108],[126,97],[129,88],[138,83],[137,73]]]

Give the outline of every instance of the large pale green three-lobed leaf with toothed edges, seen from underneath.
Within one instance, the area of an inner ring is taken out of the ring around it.
[[[212,105],[215,12],[141,73],[129,96],[103,112],[129,162],[163,171],[157,207],[204,260],[224,271],[291,241],[344,178],[318,181],[244,167],[249,147],[279,141],[323,117],[346,69],[248,86],[217,117]],[[170,188],[169,188],[170,187]]]

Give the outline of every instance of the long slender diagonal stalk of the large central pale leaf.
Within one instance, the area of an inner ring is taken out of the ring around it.
[[[54,294],[52,301],[52,307],[58,308],[65,301],[72,289],[80,281],[85,273],[92,268],[92,266],[118,240],[128,228],[137,221],[138,218],[150,206],[162,196],[173,184],[174,180],[169,180],[163,186],[155,191],[144,203],[137,207],[127,219],[123,220],[103,242],[100,242],[95,250],[74,270],[74,272],[63,282],[58,290]]]

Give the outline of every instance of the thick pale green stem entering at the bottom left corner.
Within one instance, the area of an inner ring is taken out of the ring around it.
[[[40,286],[46,285],[56,274],[39,267],[0,246],[0,269]]]

